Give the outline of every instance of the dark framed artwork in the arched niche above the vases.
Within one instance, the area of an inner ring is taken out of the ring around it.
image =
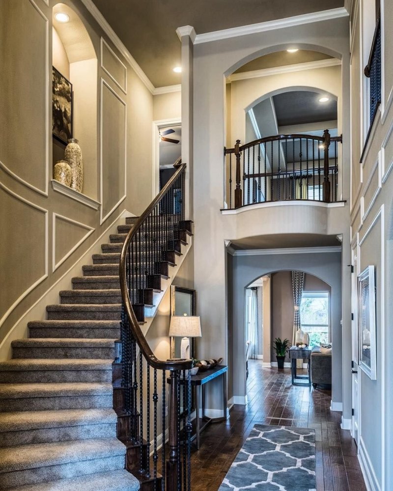
[[[67,144],[72,138],[72,84],[52,67],[52,134]]]

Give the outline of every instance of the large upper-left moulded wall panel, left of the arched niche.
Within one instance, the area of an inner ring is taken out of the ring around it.
[[[8,69],[0,73],[0,167],[45,196],[49,164],[48,29],[48,19],[33,0],[2,2],[0,66]]]

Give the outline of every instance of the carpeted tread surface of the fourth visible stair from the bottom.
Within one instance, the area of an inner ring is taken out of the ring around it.
[[[111,395],[111,382],[0,383],[0,399]]]

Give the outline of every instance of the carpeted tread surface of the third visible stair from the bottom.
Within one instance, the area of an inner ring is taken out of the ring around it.
[[[56,409],[0,413],[0,431],[15,432],[92,424],[116,424],[113,409]]]

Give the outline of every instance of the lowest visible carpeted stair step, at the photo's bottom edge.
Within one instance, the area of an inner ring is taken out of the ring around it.
[[[8,491],[138,491],[139,489],[138,479],[121,469],[97,472],[74,479],[10,488]]]

